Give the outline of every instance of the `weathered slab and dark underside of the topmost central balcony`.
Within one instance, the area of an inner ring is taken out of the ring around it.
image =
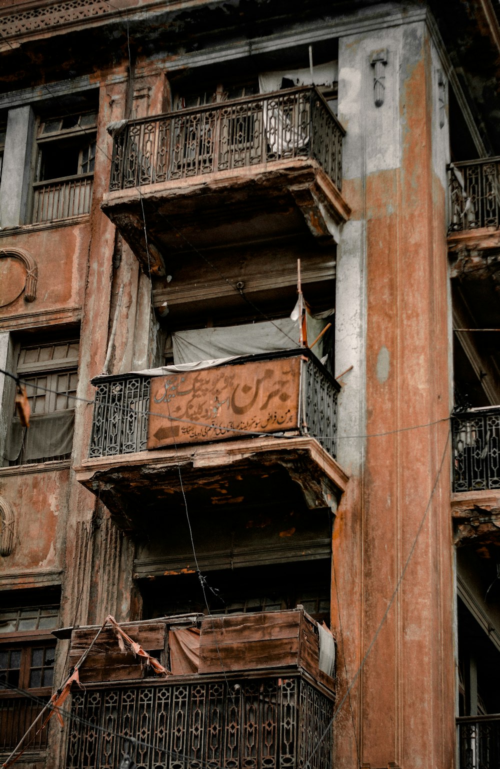
[[[309,233],[338,242],[351,209],[311,158],[163,181],[108,192],[102,210],[142,266],[165,275],[183,251]],[[145,229],[148,247],[145,242]]]

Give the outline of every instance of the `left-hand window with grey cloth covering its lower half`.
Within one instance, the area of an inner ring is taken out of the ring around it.
[[[25,381],[30,426],[23,428],[13,416],[4,464],[71,456],[77,368],[78,339],[19,346],[17,374]]]

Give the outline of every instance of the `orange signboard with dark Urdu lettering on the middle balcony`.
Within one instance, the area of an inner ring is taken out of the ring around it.
[[[300,363],[298,355],[153,377],[148,448],[298,428]]]

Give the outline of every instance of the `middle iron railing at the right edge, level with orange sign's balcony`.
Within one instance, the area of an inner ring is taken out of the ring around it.
[[[456,414],[453,428],[453,491],[500,488],[500,408]]]

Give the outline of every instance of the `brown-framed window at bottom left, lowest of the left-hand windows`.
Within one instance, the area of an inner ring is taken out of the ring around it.
[[[28,591],[25,604],[36,598]],[[49,601],[57,595],[46,594]],[[17,596],[2,598],[12,604]],[[35,721],[52,694],[58,604],[11,605],[0,611],[0,756],[12,751]],[[25,696],[25,692],[29,697]],[[47,744],[47,729],[33,730],[28,751],[41,751]]]

